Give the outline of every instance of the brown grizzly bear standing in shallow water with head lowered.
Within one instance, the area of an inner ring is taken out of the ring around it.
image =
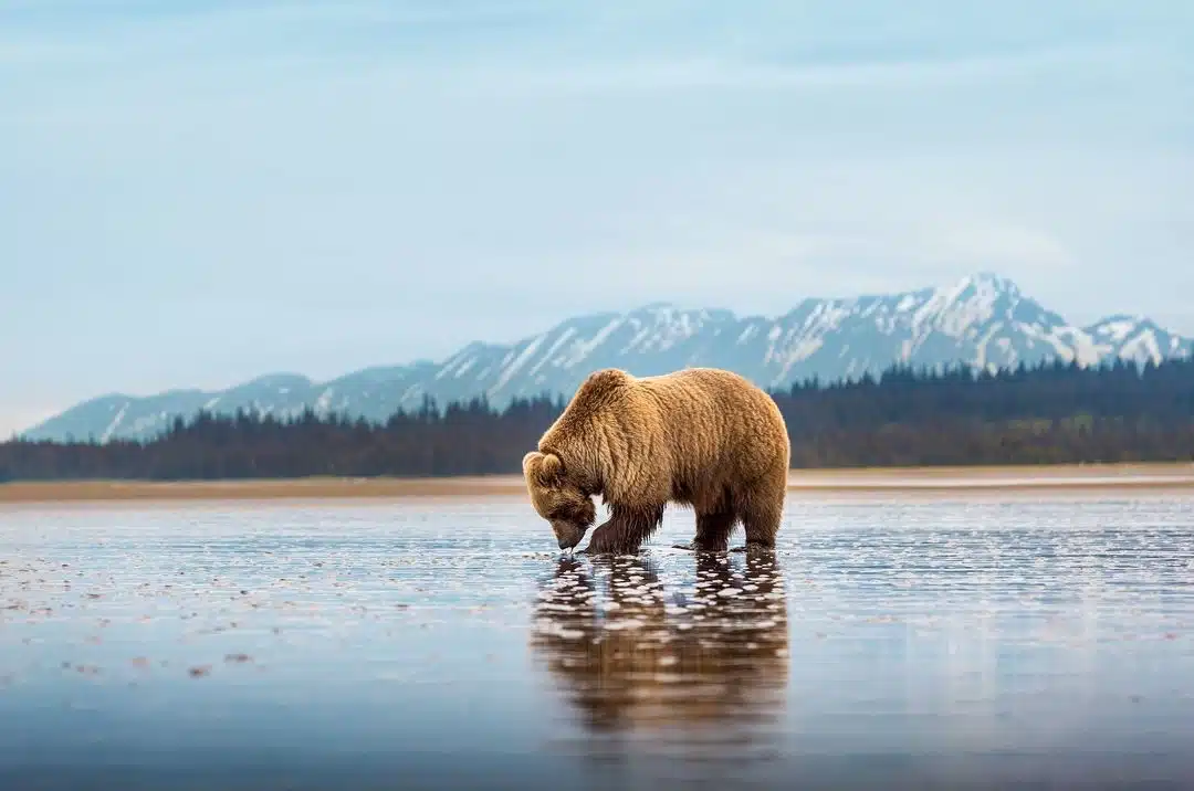
[[[775,546],[790,453],[775,401],[737,373],[605,369],[523,457],[523,476],[560,549],[580,543],[596,518],[592,496],[602,495],[610,519],[584,552],[636,552],[669,502],[696,511],[696,537],[677,546],[724,551],[741,521],[741,551]]]

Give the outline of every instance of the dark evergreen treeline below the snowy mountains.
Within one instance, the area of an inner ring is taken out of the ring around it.
[[[893,367],[773,393],[795,468],[1194,459],[1194,360],[999,372]],[[0,445],[4,480],[517,474],[562,397],[426,401],[384,424],[199,413],[148,441]]]

